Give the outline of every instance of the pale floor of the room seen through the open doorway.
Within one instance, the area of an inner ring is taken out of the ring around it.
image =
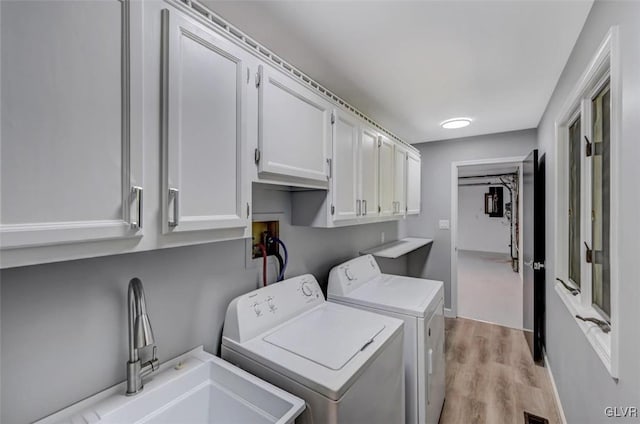
[[[458,316],[522,328],[522,281],[508,254],[458,251]]]

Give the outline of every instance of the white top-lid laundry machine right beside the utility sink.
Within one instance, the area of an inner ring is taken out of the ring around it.
[[[326,302],[302,275],[229,304],[222,357],[304,399],[297,423],[402,423],[403,334],[401,320]]]

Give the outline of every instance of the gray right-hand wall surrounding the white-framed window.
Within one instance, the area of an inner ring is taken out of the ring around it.
[[[547,355],[569,423],[607,422],[605,406],[640,407],[640,3],[596,1],[538,127],[546,153],[547,222],[554,222],[555,120],[612,25],[620,30],[622,137],[620,144],[620,379],[616,383],[559,299],[555,279],[554,228],[547,225]],[[616,170],[613,170],[616,172]],[[638,422],[638,418],[615,422]]]

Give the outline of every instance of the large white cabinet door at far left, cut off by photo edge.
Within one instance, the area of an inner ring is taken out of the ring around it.
[[[141,4],[0,7],[0,246],[141,235]]]

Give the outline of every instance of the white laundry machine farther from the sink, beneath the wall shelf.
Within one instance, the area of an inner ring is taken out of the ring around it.
[[[406,422],[437,424],[445,394],[441,281],[383,274],[371,255],[334,267],[328,300],[404,321]]]

